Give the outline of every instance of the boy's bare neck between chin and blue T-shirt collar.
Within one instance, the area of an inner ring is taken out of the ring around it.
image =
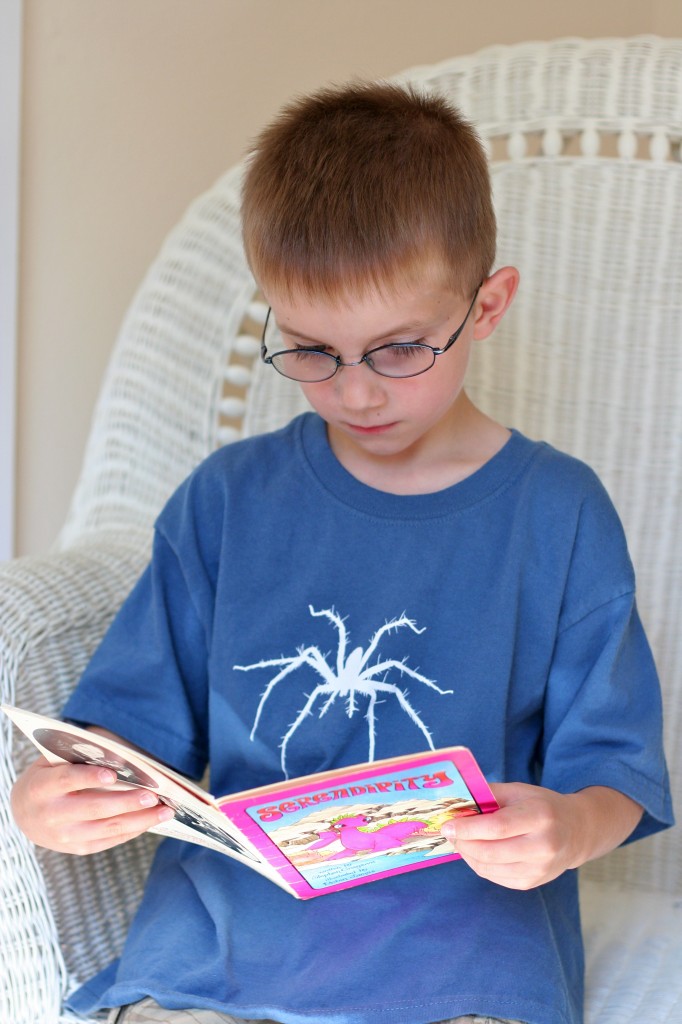
[[[395,495],[443,490],[471,476],[500,452],[511,436],[462,392],[456,422],[397,455],[374,455],[344,434],[327,428],[329,442],[341,465],[360,483]]]

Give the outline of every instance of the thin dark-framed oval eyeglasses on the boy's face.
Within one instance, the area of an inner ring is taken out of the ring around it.
[[[482,282],[481,282],[482,284]],[[467,314],[458,327],[455,334],[451,335],[442,348],[433,348],[425,345],[421,341],[391,342],[389,345],[380,345],[372,348],[365,355],[354,362],[342,362],[338,355],[325,352],[321,348],[286,348],[281,352],[267,354],[265,344],[265,334],[271,309],[268,308],[263,325],[263,335],[260,343],[260,357],[263,362],[268,362],[274,367],[283,377],[289,377],[293,381],[301,381],[304,384],[317,384],[321,381],[330,380],[339,367],[358,367],[360,362],[366,362],[370,370],[382,377],[418,377],[430,370],[435,362],[436,355],[443,355],[449,348],[455,344],[464,330],[469,314],[474,307],[474,302],[480,285],[474,292],[471,305],[467,309]]]

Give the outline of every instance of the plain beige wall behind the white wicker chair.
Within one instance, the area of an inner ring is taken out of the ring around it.
[[[124,310],[292,93],[493,43],[682,36],[680,0],[25,0],[17,553],[54,540]]]

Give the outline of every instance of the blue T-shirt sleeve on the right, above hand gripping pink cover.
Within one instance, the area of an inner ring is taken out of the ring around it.
[[[644,808],[630,840],[673,823],[658,678],[632,592],[558,636],[545,705],[542,783],[605,785]]]

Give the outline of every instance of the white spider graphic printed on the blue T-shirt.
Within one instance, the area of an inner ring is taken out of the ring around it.
[[[416,623],[412,618],[408,618],[403,612],[398,618],[393,618],[391,622],[385,623],[384,626],[377,630],[370,640],[367,650],[364,650],[361,647],[355,647],[346,657],[348,632],[345,628],[344,620],[334,611],[334,608],[323,608],[322,611],[315,611],[312,605],[309,604],[308,610],[310,614],[315,617],[324,616],[325,618],[328,618],[337,629],[339,634],[339,646],[336,653],[336,671],[328,665],[326,655],[322,653],[318,647],[304,647],[303,645],[297,648],[297,653],[294,657],[273,657],[263,662],[256,662],[254,665],[233,666],[233,668],[240,672],[251,672],[252,669],[268,669],[282,666],[282,671],[270,679],[261,694],[253,728],[251,730],[251,739],[253,739],[256,734],[260,716],[265,703],[267,702],[267,698],[278,683],[280,683],[286,676],[301,666],[307,665],[323,679],[323,682],[315,686],[312,692],[308,695],[305,705],[298,713],[296,719],[283,737],[281,744],[282,771],[284,772],[285,777],[289,778],[289,774],[287,772],[287,746],[289,741],[292,739],[303,720],[308,715],[312,714],[312,709],[317,700],[317,697],[326,698],[319,710],[319,714],[317,716],[318,718],[322,718],[323,715],[329,711],[337,697],[347,698],[346,715],[348,718],[352,718],[358,710],[355,701],[356,694],[359,693],[360,695],[370,698],[366,714],[370,740],[369,761],[374,761],[376,727],[375,708],[380,693],[390,693],[396,697],[403,712],[412,719],[415,725],[421,729],[429,748],[433,750],[434,746],[433,740],[431,739],[431,733],[408,700],[407,691],[400,689],[395,685],[395,683],[387,683],[386,676],[390,669],[397,669],[400,675],[410,676],[412,679],[416,679],[418,682],[424,683],[425,686],[430,687],[432,690],[435,690],[437,693],[442,695],[453,693],[453,690],[443,690],[439,686],[436,686],[432,679],[427,679],[414,669],[410,669],[406,664],[408,660],[407,657],[402,658],[400,662],[397,662],[394,658],[379,660],[375,665],[368,667],[368,663],[375,653],[377,647],[379,646],[379,641],[384,634],[389,633],[391,630],[398,630],[402,626],[408,626],[414,633],[421,634],[424,632],[426,627],[423,627],[421,630],[418,629]],[[384,673],[384,677],[383,679],[378,679],[377,677],[381,673]]]

